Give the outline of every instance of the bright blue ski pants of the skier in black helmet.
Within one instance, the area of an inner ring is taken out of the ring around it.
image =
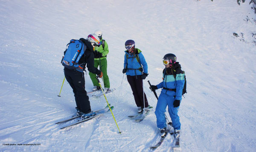
[[[158,101],[157,101],[157,107],[155,111],[155,115],[157,117],[157,127],[158,128],[164,128],[166,126],[166,118],[165,118],[165,112],[166,107],[168,105],[168,112],[172,119],[172,125],[174,129],[180,129],[180,117],[178,116],[178,110],[179,107],[173,107],[173,102],[175,101],[174,96],[166,95],[165,93],[161,93]]]

